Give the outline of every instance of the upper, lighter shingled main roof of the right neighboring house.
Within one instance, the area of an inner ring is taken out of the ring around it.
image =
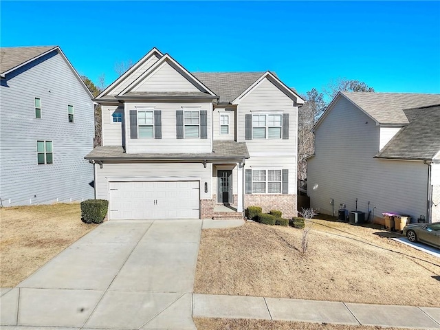
[[[440,94],[369,93],[362,91],[342,94],[380,124],[408,124],[404,109],[440,104]]]

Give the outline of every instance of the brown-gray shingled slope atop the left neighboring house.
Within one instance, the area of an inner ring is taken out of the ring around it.
[[[3,72],[7,72],[56,47],[57,46],[1,47],[0,73],[3,74]]]

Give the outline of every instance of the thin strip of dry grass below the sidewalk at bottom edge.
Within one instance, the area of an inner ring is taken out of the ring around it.
[[[288,322],[278,320],[248,320],[230,318],[194,318],[198,330],[375,330],[382,327],[364,325],[331,325],[325,323]],[[402,330],[386,328],[386,330]]]

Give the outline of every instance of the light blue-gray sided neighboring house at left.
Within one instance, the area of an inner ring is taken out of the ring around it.
[[[94,104],[59,47],[1,47],[3,206],[94,198]]]

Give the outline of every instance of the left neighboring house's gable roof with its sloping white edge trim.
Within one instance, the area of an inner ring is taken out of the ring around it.
[[[4,78],[6,74],[13,72],[14,70],[19,69],[19,67],[31,63],[37,58],[40,58],[45,54],[49,54],[50,52],[58,52],[58,54],[61,55],[69,69],[72,71],[72,74],[74,74],[74,76],[78,79],[80,85],[83,86],[83,89],[85,89],[86,93],[89,94],[89,97],[91,99],[94,98],[94,96],[91,94],[91,91],[85,85],[83,79],[81,79],[80,75],[78,72],[76,72],[76,69],[67,59],[59,46],[1,47],[0,76]]]

